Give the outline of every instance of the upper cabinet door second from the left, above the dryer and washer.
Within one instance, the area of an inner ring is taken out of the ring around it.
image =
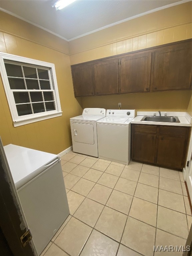
[[[118,59],[98,61],[94,64],[95,94],[119,92]]]

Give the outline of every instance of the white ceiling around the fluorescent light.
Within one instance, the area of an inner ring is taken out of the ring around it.
[[[71,41],[128,19],[190,0],[78,0],[62,10],[57,0],[3,0],[0,10]]]

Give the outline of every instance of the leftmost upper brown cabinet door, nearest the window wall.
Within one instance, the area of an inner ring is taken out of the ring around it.
[[[92,64],[71,66],[71,72],[75,97],[94,95]]]

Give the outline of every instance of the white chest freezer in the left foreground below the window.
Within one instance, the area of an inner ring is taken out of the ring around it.
[[[60,157],[12,144],[4,150],[40,255],[69,215]]]

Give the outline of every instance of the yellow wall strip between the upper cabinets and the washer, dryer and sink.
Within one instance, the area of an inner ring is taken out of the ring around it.
[[[120,95],[83,97],[83,107],[136,109],[136,111],[187,111],[191,91],[127,93]]]

